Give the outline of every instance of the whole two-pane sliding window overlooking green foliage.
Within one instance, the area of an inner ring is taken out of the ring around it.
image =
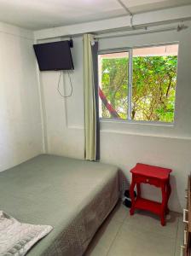
[[[98,55],[100,117],[173,122],[178,44]]]

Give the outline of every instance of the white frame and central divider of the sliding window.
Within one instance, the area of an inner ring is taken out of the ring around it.
[[[161,122],[161,121],[147,121],[147,120],[132,120],[131,119],[131,112],[132,112],[132,78],[133,78],[133,49],[138,48],[151,48],[151,47],[157,47],[157,46],[164,46],[164,45],[173,45],[178,44],[179,42],[173,42],[173,43],[163,43],[163,44],[146,44],[146,45],[138,45],[133,47],[122,47],[122,48],[113,48],[113,49],[101,49],[98,50],[97,58],[99,55],[105,55],[105,54],[112,54],[112,53],[119,53],[119,52],[128,52],[129,53],[129,61],[128,61],[128,94],[127,94],[127,102],[128,102],[128,113],[127,113],[127,119],[115,119],[115,118],[104,118],[99,117],[100,120],[106,121],[106,122],[118,122],[118,123],[130,123],[130,124],[143,124],[143,125],[165,125],[165,126],[173,126],[175,124],[176,119],[176,99],[177,99],[177,86],[176,86],[176,93],[175,93],[175,109],[174,109],[174,120],[173,122]],[[177,55],[178,58],[178,55]],[[98,73],[98,72],[97,72]],[[99,73],[98,73],[99,75]],[[99,80],[99,79],[98,79]],[[99,84],[100,85],[100,84]],[[99,97],[100,102],[100,97]]]

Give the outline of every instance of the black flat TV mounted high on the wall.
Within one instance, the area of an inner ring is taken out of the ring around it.
[[[74,69],[69,41],[34,44],[40,71]]]

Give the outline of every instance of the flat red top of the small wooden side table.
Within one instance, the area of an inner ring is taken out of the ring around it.
[[[130,170],[134,174],[139,174],[146,177],[157,177],[159,179],[168,179],[171,169],[162,168],[159,166],[149,166],[137,163],[136,166]]]

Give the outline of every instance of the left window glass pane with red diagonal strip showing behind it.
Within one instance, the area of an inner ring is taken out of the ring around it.
[[[100,117],[127,119],[128,52],[98,55]]]

